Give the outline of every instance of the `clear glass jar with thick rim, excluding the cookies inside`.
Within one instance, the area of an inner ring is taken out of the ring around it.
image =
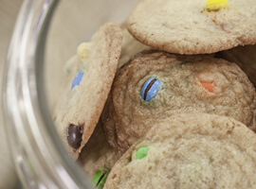
[[[64,62],[104,23],[122,24],[137,0],[25,0],[9,44],[3,110],[25,188],[92,188],[67,155],[51,111]]]

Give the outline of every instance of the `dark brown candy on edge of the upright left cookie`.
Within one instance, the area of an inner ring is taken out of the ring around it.
[[[82,126],[75,126],[70,124],[69,127],[66,129],[66,140],[68,145],[72,146],[73,148],[77,149],[81,146],[82,143]]]

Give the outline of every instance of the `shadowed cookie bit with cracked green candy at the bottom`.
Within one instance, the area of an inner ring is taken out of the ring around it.
[[[94,186],[102,188],[109,171],[122,153],[110,146],[98,124],[88,143],[82,148],[78,161]]]

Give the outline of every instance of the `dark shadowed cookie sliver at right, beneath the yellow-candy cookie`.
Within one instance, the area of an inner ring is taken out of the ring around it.
[[[218,56],[235,62],[247,74],[250,81],[256,85],[256,45],[238,46],[221,51]]]

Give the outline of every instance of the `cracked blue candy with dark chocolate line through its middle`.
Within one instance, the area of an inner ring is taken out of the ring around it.
[[[141,89],[141,98],[145,101],[150,101],[159,90],[162,90],[163,86],[161,81],[156,79],[155,77],[150,77],[143,85]]]

